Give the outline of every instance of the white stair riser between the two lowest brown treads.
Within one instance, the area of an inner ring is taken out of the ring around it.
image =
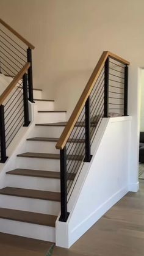
[[[0,206],[2,208],[51,215],[58,215],[60,211],[60,202],[8,195],[0,195]]]

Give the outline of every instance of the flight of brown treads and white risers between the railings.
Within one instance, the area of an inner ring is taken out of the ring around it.
[[[32,131],[35,137],[27,138],[27,152],[17,155],[16,169],[6,173],[6,186],[0,189],[0,226],[4,233],[55,242],[60,211],[60,155],[55,146],[66,122],[63,126],[48,122],[65,121],[66,111],[54,111],[54,100],[43,100],[41,93],[34,89],[38,122]],[[57,131],[51,134],[48,127],[53,125]],[[69,179],[73,180],[74,175]]]

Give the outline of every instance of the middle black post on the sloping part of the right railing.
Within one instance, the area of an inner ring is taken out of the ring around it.
[[[84,162],[90,162],[92,155],[90,155],[90,96],[85,102],[85,158]]]

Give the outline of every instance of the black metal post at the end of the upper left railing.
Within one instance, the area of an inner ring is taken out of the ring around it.
[[[29,86],[29,101],[34,102],[33,97],[33,81],[32,81],[32,49],[27,48],[27,62],[31,63],[31,67],[27,70],[28,73],[28,86]]]

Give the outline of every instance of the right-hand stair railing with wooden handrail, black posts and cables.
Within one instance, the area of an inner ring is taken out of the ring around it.
[[[67,222],[67,204],[103,117],[128,115],[127,60],[104,51],[68,120],[56,148],[60,150],[61,215]],[[73,181],[74,180],[74,181]]]

